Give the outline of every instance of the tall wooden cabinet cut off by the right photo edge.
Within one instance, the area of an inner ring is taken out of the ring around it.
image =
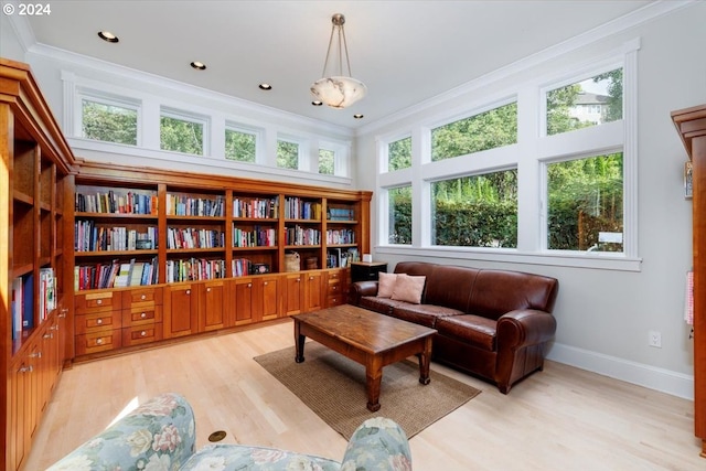
[[[706,458],[706,105],[672,113],[693,171],[694,433]]]

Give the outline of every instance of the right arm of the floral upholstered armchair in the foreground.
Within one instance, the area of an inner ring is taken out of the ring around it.
[[[397,422],[375,417],[361,424],[353,432],[341,463],[341,471],[355,470],[411,470],[407,435]]]

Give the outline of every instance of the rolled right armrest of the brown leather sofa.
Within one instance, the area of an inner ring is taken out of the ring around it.
[[[516,350],[554,339],[556,319],[535,309],[510,311],[498,319],[498,350]]]

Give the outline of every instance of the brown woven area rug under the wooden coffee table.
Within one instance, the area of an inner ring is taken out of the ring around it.
[[[387,417],[408,438],[468,403],[480,390],[431,371],[431,382],[419,383],[419,364],[404,361],[383,368],[381,409],[365,406],[365,367],[317,342],[307,342],[304,362],[295,362],[295,347],[254,358],[307,407],[346,440],[365,419]]]

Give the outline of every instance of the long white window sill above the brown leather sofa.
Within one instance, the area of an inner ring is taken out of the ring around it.
[[[548,265],[556,267],[591,268],[599,270],[640,271],[642,259],[609,253],[520,251],[512,248],[411,247],[379,245],[375,254],[407,255],[463,260],[500,261],[507,264]]]

